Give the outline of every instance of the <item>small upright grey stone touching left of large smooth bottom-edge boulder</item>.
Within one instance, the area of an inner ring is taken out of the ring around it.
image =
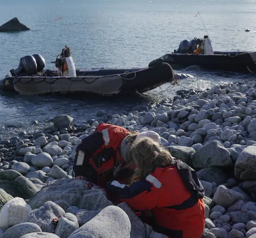
[[[60,238],[68,238],[75,230],[79,228],[75,215],[66,213],[58,222],[55,234]]]

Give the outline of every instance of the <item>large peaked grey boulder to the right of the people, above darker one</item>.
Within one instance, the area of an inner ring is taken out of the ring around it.
[[[196,151],[193,165],[195,168],[233,166],[230,152],[217,140],[204,145]]]

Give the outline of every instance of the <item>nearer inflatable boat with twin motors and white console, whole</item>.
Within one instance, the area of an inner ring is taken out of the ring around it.
[[[79,69],[76,70],[71,49],[65,46],[56,58],[56,70],[44,69],[40,54],[24,56],[16,70],[0,81],[0,90],[20,94],[82,94],[113,95],[147,92],[174,80],[169,64],[156,60],[147,68]]]

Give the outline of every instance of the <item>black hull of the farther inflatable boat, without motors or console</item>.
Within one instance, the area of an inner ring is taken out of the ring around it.
[[[214,52],[213,55],[165,54],[164,62],[174,69],[198,65],[209,70],[256,72],[255,52]]]

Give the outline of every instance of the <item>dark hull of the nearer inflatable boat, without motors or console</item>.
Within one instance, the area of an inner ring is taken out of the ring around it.
[[[173,77],[172,68],[168,64],[164,63],[144,69],[77,70],[78,76],[70,77],[69,79],[64,77],[56,77],[54,70],[46,70],[44,72],[46,72],[46,74],[49,76],[6,77],[0,81],[0,89],[8,92],[18,91],[23,94],[58,94],[61,92],[65,94],[76,94],[77,92],[88,92],[112,95],[120,94],[121,92],[143,93],[166,82],[170,82]],[[114,84],[118,83],[119,86],[115,87],[115,90],[112,90],[111,88],[106,90],[106,93],[102,93],[104,90],[100,88],[99,83],[95,87],[92,87],[91,82],[94,82],[94,80],[98,80],[98,82],[100,81],[102,83],[102,87],[104,87],[104,85],[105,87],[108,87],[108,83],[106,84],[105,79],[109,80],[109,84],[113,83],[114,86]],[[42,91],[40,91],[41,88]]]

